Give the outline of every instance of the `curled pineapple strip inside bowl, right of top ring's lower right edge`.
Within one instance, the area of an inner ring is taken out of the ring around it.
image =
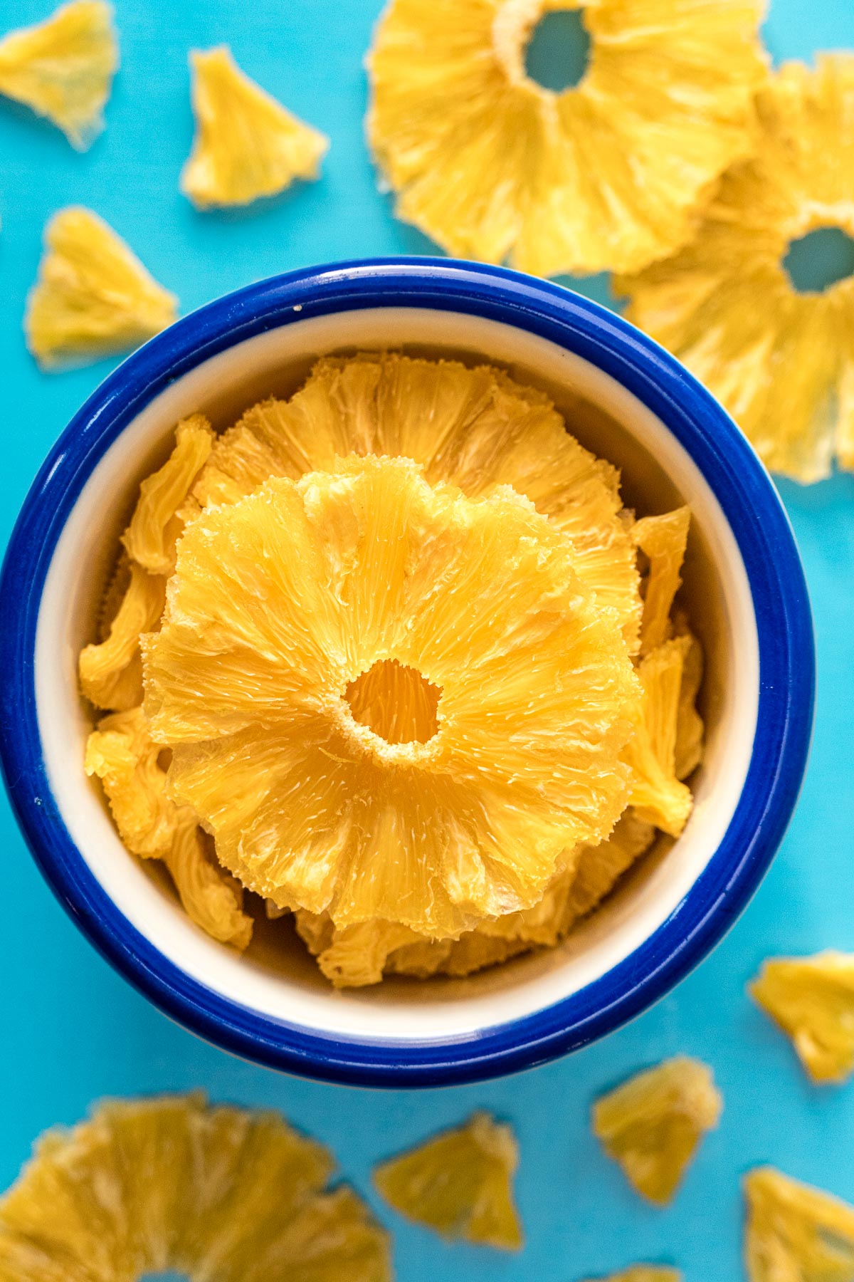
[[[682,670],[691,641],[666,641],[640,660],[643,695],[635,705],[635,733],[624,760],[631,769],[630,801],[639,819],[679,837],[691,813],[691,790],[676,778]]]

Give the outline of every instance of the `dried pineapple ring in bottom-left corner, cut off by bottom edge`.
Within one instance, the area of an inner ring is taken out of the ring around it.
[[[0,1200],[3,1282],[391,1282],[388,1240],[332,1154],[277,1113],[202,1095],[100,1105],[47,1132]]]

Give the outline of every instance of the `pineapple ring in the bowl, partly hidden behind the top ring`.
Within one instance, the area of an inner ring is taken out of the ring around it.
[[[219,438],[193,494],[202,505],[234,503],[271,476],[297,479],[350,454],[414,459],[430,483],[469,497],[512,486],[567,536],[580,578],[636,647],[636,551],[617,470],[568,435],[547,396],[493,367],[396,354],[320,360],[289,401],[261,401]]]

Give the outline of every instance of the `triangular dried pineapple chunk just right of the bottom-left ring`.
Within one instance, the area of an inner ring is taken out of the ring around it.
[[[508,1126],[488,1113],[374,1172],[376,1188],[396,1210],[444,1237],[504,1251],[522,1246],[513,1204],[519,1147]]]

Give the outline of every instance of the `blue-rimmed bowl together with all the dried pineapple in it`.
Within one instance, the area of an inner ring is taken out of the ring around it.
[[[503,268],[250,286],[60,437],[0,594],[54,892],[248,1059],[421,1085],[618,1027],[722,936],[805,769],[782,506],[717,403]]]

